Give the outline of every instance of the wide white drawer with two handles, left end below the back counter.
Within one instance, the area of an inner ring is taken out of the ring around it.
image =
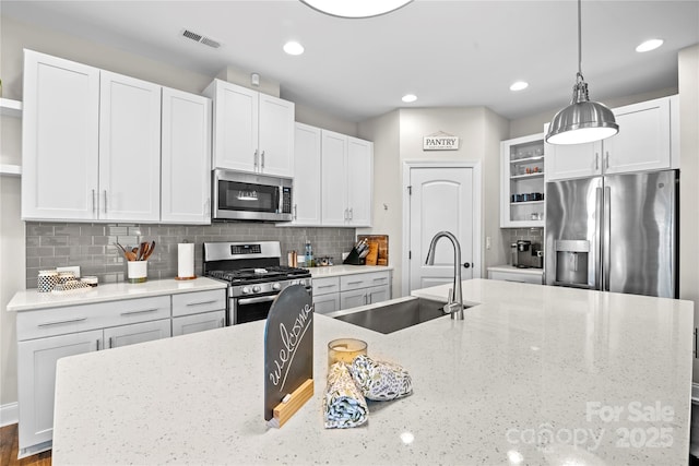
[[[17,340],[168,319],[169,316],[169,296],[23,311],[17,313]]]

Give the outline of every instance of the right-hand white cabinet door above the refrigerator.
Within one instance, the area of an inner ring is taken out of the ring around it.
[[[619,132],[602,143],[606,174],[671,168],[670,105],[663,98],[614,110]]]

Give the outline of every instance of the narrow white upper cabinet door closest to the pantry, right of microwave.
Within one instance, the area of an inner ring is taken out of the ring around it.
[[[348,224],[371,226],[374,190],[374,144],[347,138],[347,208]]]

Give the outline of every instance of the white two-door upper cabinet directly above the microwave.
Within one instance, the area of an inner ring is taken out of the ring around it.
[[[294,176],[294,103],[214,80],[213,167]]]

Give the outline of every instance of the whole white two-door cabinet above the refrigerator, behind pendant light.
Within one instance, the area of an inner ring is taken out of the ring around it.
[[[677,168],[677,106],[673,96],[615,108],[616,135],[588,144],[546,144],[546,180]]]

